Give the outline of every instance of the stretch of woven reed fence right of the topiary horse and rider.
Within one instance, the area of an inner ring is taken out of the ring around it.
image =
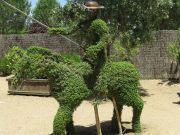
[[[167,46],[169,42],[175,41],[177,36],[177,31],[158,31],[153,39],[143,46],[134,59],[142,79],[167,79],[175,70],[176,62],[169,58]]]

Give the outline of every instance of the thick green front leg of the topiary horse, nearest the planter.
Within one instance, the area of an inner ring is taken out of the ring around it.
[[[66,129],[71,127],[70,125],[72,126],[72,111],[68,107],[60,107],[54,118],[53,135],[69,134],[69,131],[66,132]]]

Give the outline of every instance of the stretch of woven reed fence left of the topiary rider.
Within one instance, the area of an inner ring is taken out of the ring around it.
[[[2,57],[14,45],[20,45],[22,48],[28,48],[32,45],[53,49],[56,52],[78,53],[81,54],[80,47],[65,38],[50,36],[49,34],[12,34],[0,35],[0,57]]]

